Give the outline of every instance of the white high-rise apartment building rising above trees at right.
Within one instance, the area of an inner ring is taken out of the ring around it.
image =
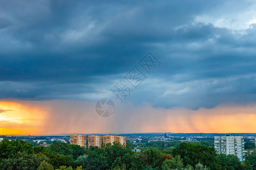
[[[214,137],[214,148],[217,154],[236,155],[241,162],[245,161],[245,142],[242,136],[222,135]]]

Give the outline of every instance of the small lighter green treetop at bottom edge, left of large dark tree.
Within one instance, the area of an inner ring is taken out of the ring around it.
[[[183,168],[183,162],[179,155],[175,156],[174,159],[164,160],[162,169],[170,170],[170,169],[181,169]]]

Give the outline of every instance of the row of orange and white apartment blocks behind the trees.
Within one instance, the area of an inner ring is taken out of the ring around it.
[[[118,142],[121,145],[126,146],[126,137],[119,137],[116,135],[104,135],[103,137],[98,135],[89,135],[87,140],[88,147],[101,147],[102,144],[106,146],[107,143],[111,143],[113,145],[114,142]],[[86,135],[71,135],[70,144],[86,147]]]

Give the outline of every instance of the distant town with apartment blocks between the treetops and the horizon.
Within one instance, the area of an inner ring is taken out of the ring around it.
[[[142,147],[149,146],[148,143],[154,143],[155,147],[159,142],[191,142],[201,145],[213,146],[217,154],[236,155],[241,162],[244,162],[245,155],[255,152],[256,134],[217,134],[217,133],[140,133],[140,134],[71,134],[54,136],[36,136],[36,135],[2,135],[0,142],[7,138],[22,139],[32,143],[33,146],[47,147],[54,142],[64,142],[82,147],[101,147],[107,143],[113,145],[114,142],[126,146],[126,141],[133,147],[134,151],[140,152]]]

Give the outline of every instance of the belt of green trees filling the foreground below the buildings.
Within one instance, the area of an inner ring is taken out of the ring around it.
[[[217,155],[213,147],[207,146],[212,145],[210,141],[194,143],[149,142],[145,144],[148,148],[134,152],[132,143],[130,146],[114,143],[86,150],[78,145],[61,142],[33,148],[26,141],[4,139],[0,142],[0,169],[256,170],[255,154],[247,156],[245,163],[241,163],[236,156]]]

